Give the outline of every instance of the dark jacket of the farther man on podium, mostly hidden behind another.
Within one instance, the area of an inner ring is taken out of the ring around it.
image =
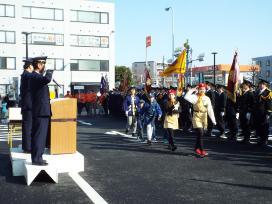
[[[32,96],[31,96],[31,77],[32,73],[24,71],[21,75],[21,86],[20,86],[20,96],[21,96],[21,110],[31,111],[32,110]]]

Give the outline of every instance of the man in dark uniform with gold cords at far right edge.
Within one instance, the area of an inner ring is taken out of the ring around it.
[[[269,117],[272,112],[272,92],[268,89],[269,82],[260,79],[259,90],[255,96],[254,124],[256,136],[260,138],[258,145],[266,145],[269,134]]]

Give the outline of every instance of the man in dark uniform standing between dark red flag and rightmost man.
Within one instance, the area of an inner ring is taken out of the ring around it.
[[[242,95],[239,98],[239,118],[242,129],[241,135],[244,137],[244,139],[241,141],[242,143],[249,143],[251,134],[250,118],[254,108],[255,98],[252,91],[250,91],[250,87],[251,82],[244,80],[242,84]]]

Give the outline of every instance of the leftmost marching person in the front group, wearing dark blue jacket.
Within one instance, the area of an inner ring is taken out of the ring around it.
[[[136,96],[135,87],[130,88],[130,94],[126,97],[123,103],[123,108],[127,117],[126,134],[132,129],[132,136],[136,135],[137,130],[137,108],[139,107],[140,99]]]

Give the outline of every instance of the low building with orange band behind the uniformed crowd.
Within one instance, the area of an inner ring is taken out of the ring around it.
[[[243,79],[248,79],[256,83],[256,73],[259,72],[259,66],[252,65],[239,65],[240,67],[240,76],[239,81],[242,82]],[[218,64],[215,65],[215,83],[227,85],[229,71],[231,64]],[[188,70],[191,72],[192,84],[198,84],[204,81],[214,82],[213,76],[213,65],[203,66],[203,67],[194,67]],[[190,81],[190,80],[189,80]]]

